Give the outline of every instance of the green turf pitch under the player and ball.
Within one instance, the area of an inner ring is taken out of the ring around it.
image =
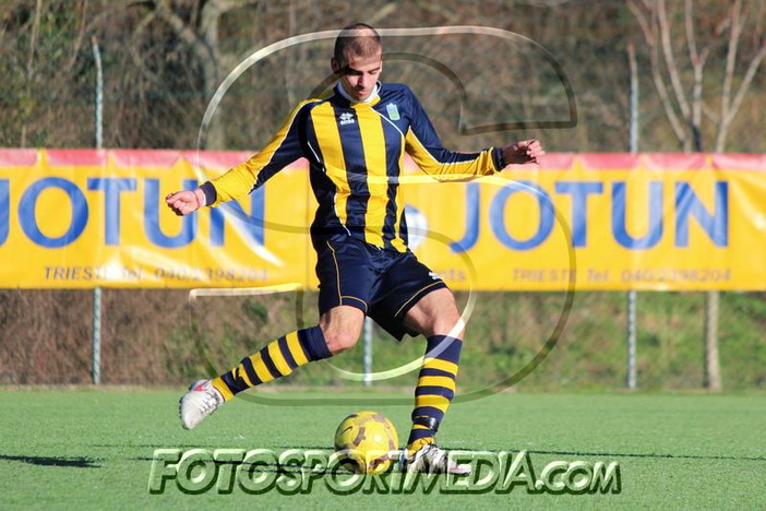
[[[213,487],[185,495],[173,482],[151,495],[155,449],[332,447],[358,405],[258,405],[237,400],[193,431],[177,418],[178,391],[22,390],[0,393],[0,509],[756,509],[766,504],[766,397],[762,394],[502,393],[454,405],[440,432],[448,449],[526,450],[535,470],[551,461],[618,462],[621,492],[249,495]],[[284,392],[268,397],[339,399]],[[371,400],[402,394],[360,393]],[[374,406],[407,435],[407,406]],[[404,439],[402,439],[404,441]],[[359,500],[362,499],[362,500]],[[235,508],[230,508],[235,509]]]

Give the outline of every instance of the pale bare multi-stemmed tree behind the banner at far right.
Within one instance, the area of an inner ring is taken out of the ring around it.
[[[684,152],[727,150],[734,119],[766,58],[766,2],[630,0],[649,54],[651,80]],[[681,54],[685,58],[679,58]],[[707,66],[709,64],[709,66]],[[707,69],[706,69],[707,66]],[[668,85],[669,83],[669,85]],[[705,94],[705,87],[713,88]],[[763,95],[763,93],[762,93]],[[735,147],[741,146],[735,140]],[[720,390],[718,292],[707,294],[706,387]]]

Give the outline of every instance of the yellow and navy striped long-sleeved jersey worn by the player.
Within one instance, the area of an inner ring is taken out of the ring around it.
[[[380,248],[407,250],[399,175],[405,152],[440,180],[470,179],[501,170],[502,150],[445,150],[415,94],[379,83],[363,103],[340,84],[323,98],[301,102],[260,153],[202,186],[208,205],[251,193],[282,168],[304,157],[319,202],[311,226],[318,239],[346,233]]]

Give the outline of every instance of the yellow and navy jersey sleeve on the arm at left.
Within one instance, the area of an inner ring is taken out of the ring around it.
[[[284,167],[303,156],[300,119],[306,115],[307,104],[308,102],[301,103],[290,112],[287,121],[260,153],[200,187],[205,193],[207,205],[216,206],[251,193]]]

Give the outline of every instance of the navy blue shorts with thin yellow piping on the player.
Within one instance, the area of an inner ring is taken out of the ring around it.
[[[404,324],[420,298],[447,287],[410,251],[383,250],[347,235],[315,240],[320,316],[340,305],[360,309],[402,341],[418,335]]]

